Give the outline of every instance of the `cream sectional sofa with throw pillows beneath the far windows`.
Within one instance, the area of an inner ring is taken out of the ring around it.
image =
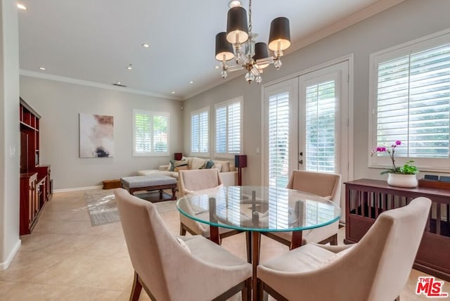
[[[146,169],[139,170],[137,174],[139,176],[146,176],[147,174],[152,174],[158,172],[159,174],[165,174],[169,177],[174,177],[176,179],[176,186],[179,187],[178,181],[178,171],[184,169],[200,169],[206,168],[207,161],[211,160],[214,162],[214,165],[210,168],[217,168],[220,172],[220,177],[222,179],[222,183],[224,186],[236,186],[238,184],[238,171],[231,165],[231,162],[228,160],[212,160],[212,159],[203,159],[198,157],[184,157],[179,161],[170,160],[173,164],[171,169],[171,164],[169,165],[160,165],[158,169]]]

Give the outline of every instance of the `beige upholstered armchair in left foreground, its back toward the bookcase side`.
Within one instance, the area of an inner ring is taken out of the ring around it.
[[[242,290],[250,296],[252,266],[203,236],[174,237],[152,203],[115,191],[134,283],[151,300],[226,300]]]

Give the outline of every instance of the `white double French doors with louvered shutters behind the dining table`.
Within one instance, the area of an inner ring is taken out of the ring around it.
[[[285,187],[293,169],[347,181],[349,142],[348,60],[264,88],[265,185]]]

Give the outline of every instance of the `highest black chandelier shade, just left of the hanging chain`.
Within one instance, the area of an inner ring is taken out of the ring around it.
[[[236,6],[228,11],[226,20],[226,39],[231,44],[242,44],[248,40],[247,11]]]

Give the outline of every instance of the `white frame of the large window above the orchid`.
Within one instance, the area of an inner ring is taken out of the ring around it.
[[[373,148],[377,147],[377,87],[378,87],[378,64],[387,60],[406,56],[409,53],[425,51],[433,47],[450,43],[450,29],[430,34],[420,39],[406,42],[404,44],[372,53],[370,56],[369,72],[369,112],[368,112],[368,167],[370,168],[390,168],[392,162],[387,156],[371,156]],[[394,141],[392,141],[394,142]],[[403,165],[408,160],[414,160],[420,171],[448,172],[450,168],[449,158],[406,158],[398,157],[396,161]]]

